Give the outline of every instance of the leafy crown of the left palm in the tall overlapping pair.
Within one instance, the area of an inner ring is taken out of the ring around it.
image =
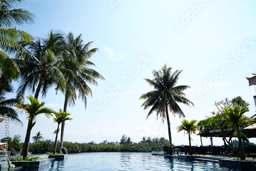
[[[27,50],[17,53],[15,59],[22,76],[17,90],[18,97],[23,97],[27,88],[35,92],[34,97],[37,99],[39,92],[46,96],[48,89],[54,84],[65,87],[63,73],[72,72],[58,67],[64,50],[63,36],[60,32],[50,31],[46,38],[32,40],[23,46]]]

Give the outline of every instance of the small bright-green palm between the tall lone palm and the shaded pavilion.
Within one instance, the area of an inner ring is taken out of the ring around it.
[[[196,131],[198,129],[198,126],[195,125],[195,123],[197,122],[197,120],[193,119],[190,122],[186,119],[183,119],[181,121],[181,125],[177,126],[177,131],[178,133],[181,131],[184,131],[184,135],[185,133],[188,134],[188,140],[189,140],[189,155],[192,155],[192,147],[191,147],[191,138],[190,135],[191,134],[196,134]]]

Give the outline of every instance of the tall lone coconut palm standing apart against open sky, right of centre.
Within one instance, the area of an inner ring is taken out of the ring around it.
[[[172,135],[170,133],[170,120],[168,111],[173,115],[178,114],[179,117],[185,117],[184,113],[180,109],[178,103],[182,103],[190,106],[194,104],[185,97],[184,90],[190,88],[189,86],[176,86],[179,79],[179,75],[182,71],[171,72],[172,68],[167,67],[165,64],[161,70],[153,70],[154,79],[145,79],[155,90],[147,92],[140,96],[140,99],[144,99],[145,102],[141,105],[144,106],[144,110],[151,108],[147,114],[147,118],[153,113],[157,112],[158,116],[162,118],[162,121],[167,120],[168,134],[170,147],[172,148]]]

